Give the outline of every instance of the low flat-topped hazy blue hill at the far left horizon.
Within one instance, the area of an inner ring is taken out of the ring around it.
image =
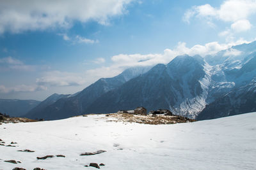
[[[20,117],[39,103],[40,101],[35,100],[0,99],[0,113],[6,113],[11,117]]]

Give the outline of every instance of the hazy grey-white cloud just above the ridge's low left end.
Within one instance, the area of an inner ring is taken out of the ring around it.
[[[42,78],[37,78],[36,83],[38,83],[38,85],[58,87],[83,85],[85,81],[81,76],[77,76],[75,73],[48,71],[44,73]]]

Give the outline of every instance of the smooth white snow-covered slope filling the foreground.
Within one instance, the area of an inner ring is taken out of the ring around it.
[[[0,169],[255,169],[256,113],[174,125],[107,122],[89,115],[0,125]],[[5,129],[6,128],[6,129]],[[17,150],[35,150],[33,153]],[[84,152],[106,150],[98,155]],[[62,154],[36,160],[36,157]],[[4,160],[20,160],[11,164]]]

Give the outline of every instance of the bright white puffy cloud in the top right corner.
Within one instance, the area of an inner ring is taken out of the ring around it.
[[[219,8],[214,8],[210,4],[193,6],[184,13],[184,22],[189,23],[191,18],[206,18],[207,24],[212,25],[212,19],[231,22],[230,29],[220,32],[220,36],[228,36],[227,39],[232,41],[234,33],[248,31],[252,24],[248,18],[256,13],[255,0],[227,0]],[[214,25],[214,24],[213,24]],[[234,31],[234,32],[231,32]]]

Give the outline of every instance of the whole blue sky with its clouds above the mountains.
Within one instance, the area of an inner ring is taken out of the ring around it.
[[[127,67],[256,38],[255,0],[2,0],[0,98],[73,94]]]

